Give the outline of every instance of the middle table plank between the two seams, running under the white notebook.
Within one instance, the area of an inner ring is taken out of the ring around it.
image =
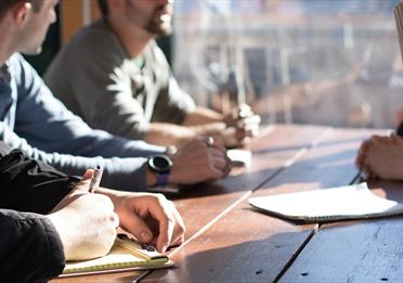
[[[325,130],[314,143],[296,149],[297,158],[255,194],[352,182],[358,173],[353,165],[355,152],[372,133]],[[257,213],[245,200],[173,253],[179,269],[154,271],[145,282],[272,282],[292,263],[313,231],[313,226],[298,226]]]

